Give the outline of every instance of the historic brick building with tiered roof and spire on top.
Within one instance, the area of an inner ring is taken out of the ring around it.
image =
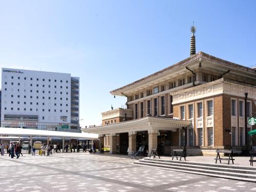
[[[110,134],[111,153],[117,152],[117,135],[127,141],[129,153],[142,145],[149,151],[157,147],[162,154],[185,147],[188,155],[248,148],[252,143],[247,132],[255,129],[247,122],[256,115],[256,70],[196,54],[192,32],[190,57],[111,91],[127,97],[133,120],[102,122],[83,131],[100,138]]]

